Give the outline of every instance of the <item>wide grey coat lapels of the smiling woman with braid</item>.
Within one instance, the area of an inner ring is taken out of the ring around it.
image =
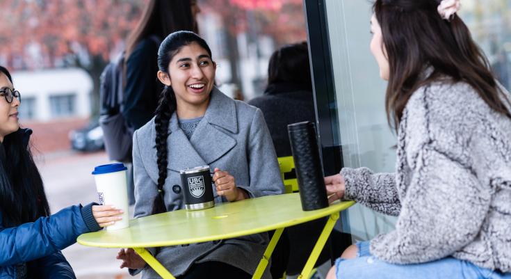
[[[170,118],[169,131],[170,135],[167,140],[168,168],[179,171],[209,165],[236,145],[236,140],[228,133],[238,133],[236,103],[217,88],[213,88],[204,118],[195,128],[190,140],[179,129],[176,113],[173,113]],[[156,139],[154,125],[151,135],[152,143],[154,143]],[[156,159],[156,152],[154,152],[154,156]]]

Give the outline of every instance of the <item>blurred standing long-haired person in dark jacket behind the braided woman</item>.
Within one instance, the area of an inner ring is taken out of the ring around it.
[[[196,0],[151,0],[126,43],[124,108],[122,115],[134,130],[151,120],[163,90],[157,81],[157,53],[161,40],[175,31],[197,32]],[[128,168],[129,204],[135,203],[133,195],[133,168]]]

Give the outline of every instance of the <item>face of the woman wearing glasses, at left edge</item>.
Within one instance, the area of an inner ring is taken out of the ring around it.
[[[7,88],[14,91],[13,83],[9,81],[6,74],[0,73],[0,141],[19,129],[19,99],[13,97],[13,102],[8,103],[4,96],[6,92],[3,91]]]

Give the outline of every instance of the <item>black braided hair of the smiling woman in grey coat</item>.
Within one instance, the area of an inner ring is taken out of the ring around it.
[[[190,31],[178,31],[172,33],[161,42],[158,50],[158,67],[162,72],[168,73],[168,65],[172,58],[179,52],[179,50],[192,43],[197,43],[205,49],[209,57],[211,56],[211,49],[209,49],[206,41],[199,37],[199,35]],[[152,214],[158,214],[166,212],[165,202],[163,197],[165,191],[163,186],[165,185],[165,179],[167,179],[167,164],[168,164],[168,149],[167,149],[167,138],[169,135],[168,125],[172,113],[177,109],[176,96],[172,87],[165,86],[163,92],[160,95],[158,107],[156,108],[156,118],[154,118],[154,127],[156,130],[156,164],[158,165],[158,191],[159,195],[154,200]]]

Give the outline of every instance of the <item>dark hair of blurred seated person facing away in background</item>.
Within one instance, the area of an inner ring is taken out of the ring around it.
[[[273,83],[302,84],[312,90],[307,42],[300,42],[273,52],[268,63],[268,86]]]

